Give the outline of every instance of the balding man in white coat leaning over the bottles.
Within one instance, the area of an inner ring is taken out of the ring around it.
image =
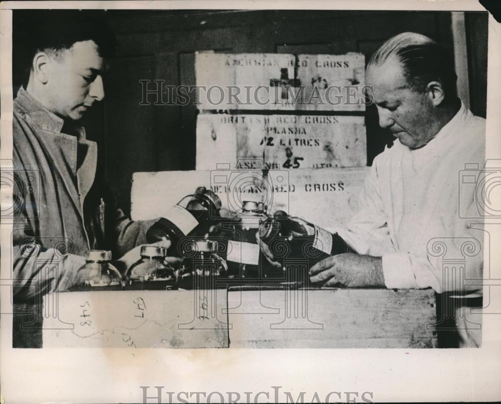
[[[336,229],[358,254],[315,265],[312,282],[480,290],[482,231],[463,218],[478,217],[481,207],[459,178],[465,164],[484,165],[485,120],[457,98],[456,79],[446,50],[420,34],[397,35],[371,57],[366,85],[380,126],[396,139],[374,159],[359,212]],[[462,264],[444,265],[451,257]]]

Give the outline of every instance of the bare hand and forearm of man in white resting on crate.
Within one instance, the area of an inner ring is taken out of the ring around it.
[[[322,286],[385,287],[381,257],[339,254],[310,269],[310,280]]]

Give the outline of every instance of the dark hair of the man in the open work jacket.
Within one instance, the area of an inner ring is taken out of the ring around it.
[[[106,12],[99,10],[16,10],[13,13],[13,53],[15,70],[26,85],[33,58],[40,51],[59,54],[76,42],[92,40],[100,56],[113,56],[118,42]]]

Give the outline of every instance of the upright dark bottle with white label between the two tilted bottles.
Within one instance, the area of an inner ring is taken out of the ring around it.
[[[226,263],[228,278],[233,280],[259,279],[261,252],[256,238],[260,225],[268,219],[266,206],[262,202],[243,201],[228,237]],[[245,282],[246,283],[246,282]]]

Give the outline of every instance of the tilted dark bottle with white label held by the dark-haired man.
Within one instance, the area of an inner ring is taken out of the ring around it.
[[[210,227],[217,223],[221,200],[204,186],[182,198],[160,218],[147,232],[148,243],[170,240],[167,255],[179,256],[179,241],[186,236],[206,237]]]

